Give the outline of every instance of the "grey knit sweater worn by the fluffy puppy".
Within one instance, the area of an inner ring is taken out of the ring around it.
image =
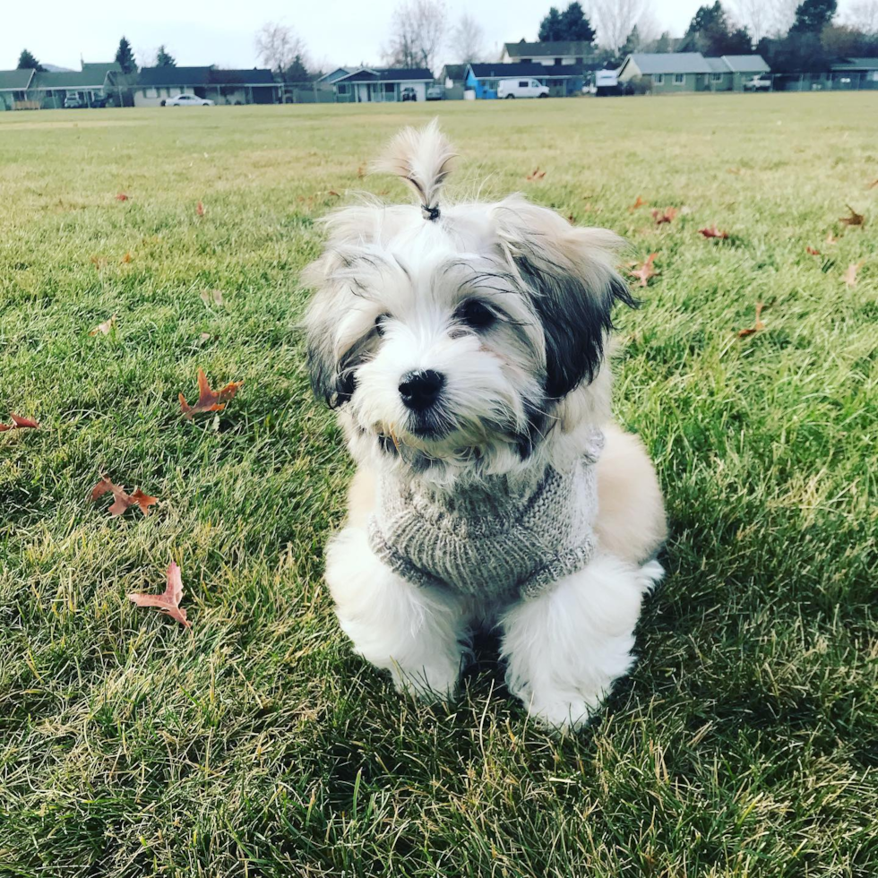
[[[604,437],[569,471],[548,468],[537,484],[505,476],[452,492],[384,476],[369,543],[403,579],[479,598],[537,595],[581,570],[595,551],[595,463]]]

